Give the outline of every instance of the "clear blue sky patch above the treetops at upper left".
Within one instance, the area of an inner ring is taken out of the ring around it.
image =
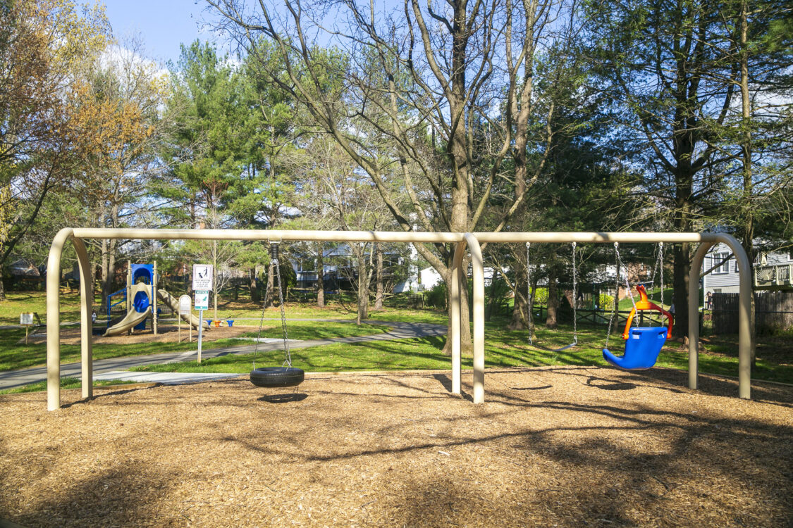
[[[104,0],[113,35],[123,45],[125,36],[140,34],[150,59],[176,62],[179,44],[216,40],[205,29],[208,13],[203,0]]]

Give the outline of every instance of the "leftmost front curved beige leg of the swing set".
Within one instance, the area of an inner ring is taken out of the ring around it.
[[[47,410],[60,408],[60,257],[74,231],[64,227],[52,239],[47,260]]]

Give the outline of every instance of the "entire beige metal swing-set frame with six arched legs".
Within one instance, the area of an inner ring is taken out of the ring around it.
[[[462,269],[467,246],[473,264],[473,403],[485,401],[485,273],[480,242],[485,243],[699,243],[691,261],[688,294],[688,386],[697,388],[699,372],[699,270],[708,250],[723,242],[734,252],[740,275],[740,306],[738,336],[738,396],[751,397],[751,352],[754,347],[749,309],[751,277],[749,258],[740,243],[729,234],[722,233],[427,233],[382,231],[293,231],[293,230],[146,230],[146,229],[93,229],[63,228],[52,241],[47,275],[47,408],[60,407],[60,300],[59,276],[63,246],[71,240],[77,253],[81,273],[80,319],[82,358],[82,397],[93,395],[93,367],[91,352],[91,318],[88,285],[90,266],[85,238],[133,240],[238,240],[238,241],[373,241],[404,243],[456,244],[451,268],[450,314],[452,342],[453,393],[461,393],[461,338],[460,328],[468,321],[460,321]]]

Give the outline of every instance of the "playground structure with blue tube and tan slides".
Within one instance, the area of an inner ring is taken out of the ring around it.
[[[113,302],[113,297],[122,296],[120,301]],[[132,264],[127,261],[127,286],[109,294],[107,303],[107,330],[105,337],[120,336],[124,332],[146,329],[146,320],[151,317],[151,330],[157,335],[157,301],[161,301],[170,307],[177,317],[182,317],[188,325],[198,328],[201,321],[192,313],[180,313],[179,300],[167,291],[157,287],[157,263],[154,264]],[[110,310],[125,302],[127,315],[115,325],[110,325]]]

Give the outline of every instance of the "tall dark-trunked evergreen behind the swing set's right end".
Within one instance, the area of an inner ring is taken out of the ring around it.
[[[613,115],[630,161],[642,165],[640,190],[648,214],[661,211],[676,231],[701,230],[723,188],[730,154],[718,135],[732,104],[736,65],[719,44],[721,14],[711,0],[648,0],[588,4],[589,39],[599,81],[615,102]],[[712,218],[711,218],[712,219]],[[676,317],[688,318],[691,245],[672,249]],[[677,325],[683,336],[685,325]]]

